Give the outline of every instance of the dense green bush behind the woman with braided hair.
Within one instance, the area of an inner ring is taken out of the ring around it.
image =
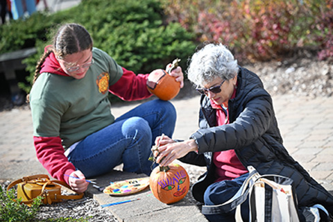
[[[37,53],[24,60],[31,73],[27,80],[31,83],[44,46],[51,44],[54,30],[67,22],[85,26],[94,46],[135,73],[165,68],[175,58],[181,58],[180,65],[186,69],[187,58],[196,48],[194,35],[178,23],[165,22],[158,0],[90,0],[52,15],[37,12],[26,20],[1,26],[0,53],[35,46]],[[24,83],[19,86],[26,92],[31,89],[31,85]]]

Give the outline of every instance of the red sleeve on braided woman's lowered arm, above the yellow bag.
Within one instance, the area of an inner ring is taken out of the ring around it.
[[[65,156],[60,137],[33,137],[33,143],[43,167],[53,178],[68,184],[69,178],[64,177],[64,174],[70,175],[76,169]]]

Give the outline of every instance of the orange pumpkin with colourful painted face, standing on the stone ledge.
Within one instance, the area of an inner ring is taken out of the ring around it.
[[[162,203],[176,203],[189,191],[189,175],[179,164],[157,166],[151,172],[149,187],[155,198]]]

